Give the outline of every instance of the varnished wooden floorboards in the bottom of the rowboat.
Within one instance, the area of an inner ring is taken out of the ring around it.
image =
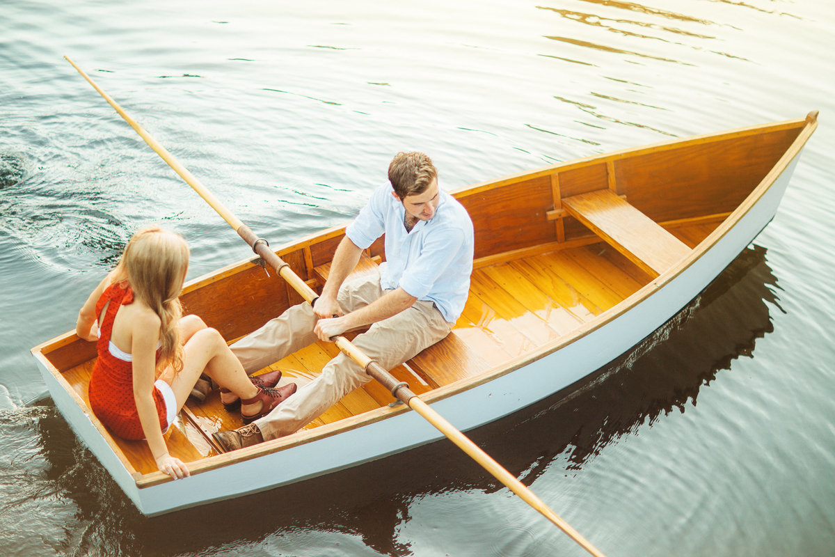
[[[682,226],[670,232],[693,247],[717,224]],[[358,269],[367,272],[368,267],[369,261],[363,261]],[[320,280],[326,272],[317,269]],[[647,272],[602,241],[478,267],[473,271],[470,295],[453,332],[392,369],[392,375],[407,382],[418,395],[472,377],[569,334],[650,280]],[[280,369],[282,384],[293,381],[301,386],[316,377],[338,352],[333,343],[316,342],[257,373]],[[90,361],[64,373],[85,402],[92,366]],[[392,401],[385,387],[368,382],[342,397],[306,428],[365,413]],[[210,441],[212,432],[242,425],[240,413],[225,411],[216,390],[204,403],[189,402],[188,409],[166,434],[171,453],[184,462],[215,454]],[[136,471],[154,471],[146,443],[119,439],[116,443]]]

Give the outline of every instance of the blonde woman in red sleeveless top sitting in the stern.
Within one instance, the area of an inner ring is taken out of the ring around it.
[[[140,230],[119,264],[78,312],[79,337],[98,342],[90,377],[93,412],[113,433],[146,439],[160,471],[189,475],[163,438],[201,373],[221,387],[227,408],[240,402],[246,423],[269,413],[296,392],[276,386],[281,372],[248,377],[223,337],[197,316],[181,317],[180,291],[189,248],[173,232]]]

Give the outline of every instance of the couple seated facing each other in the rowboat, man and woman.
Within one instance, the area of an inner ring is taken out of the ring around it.
[[[99,420],[122,438],[147,439],[159,470],[180,479],[189,470],[169,454],[163,433],[186,399],[205,396],[211,382],[247,424],[214,434],[230,451],[296,432],[371,379],[342,353],[297,391],[295,383],[277,387],[281,372],[250,373],[361,327],[371,326],[353,344],[387,369],[446,337],[467,301],[473,223],[439,188],[426,154],[397,154],[388,180],[348,225],[312,306],[292,306],[231,346],[200,317],[181,316],[185,240],[159,228],[134,235],[78,314],[78,336],[98,342],[89,400]],[[345,282],[384,234],[379,273]]]

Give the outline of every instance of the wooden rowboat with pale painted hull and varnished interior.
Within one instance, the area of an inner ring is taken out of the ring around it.
[[[468,303],[447,338],[392,375],[462,430],[570,389],[662,326],[753,240],[775,215],[816,127],[811,113],[453,192],[476,230]],[[276,253],[318,290],[343,231]],[[355,273],[384,258],[377,241]],[[301,301],[260,262],[190,281],[185,311],[234,341]],[[214,392],[189,403],[167,434],[171,453],[192,473],[175,482],[156,471],[146,443],[114,438],[90,411],[93,343],[68,332],[32,352],[60,412],[144,514],[271,489],[442,437],[369,382],[295,434],[220,453],[211,433],[241,423]],[[337,353],[318,342],[262,371],[281,369],[286,380],[304,382]]]

